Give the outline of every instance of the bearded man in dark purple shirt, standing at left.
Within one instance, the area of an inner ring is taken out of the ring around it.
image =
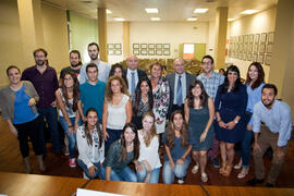
[[[22,75],[22,81],[30,81],[35,86],[40,99],[37,109],[41,119],[46,119],[48,128],[51,133],[53,151],[60,154],[60,135],[58,130],[58,114],[56,90],[59,87],[57,72],[49,66],[47,51],[39,48],[34,51],[36,64],[27,68]],[[46,156],[45,122],[40,131],[40,143],[42,152]]]

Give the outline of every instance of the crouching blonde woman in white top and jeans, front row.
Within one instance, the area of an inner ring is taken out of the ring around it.
[[[143,128],[138,131],[139,158],[135,161],[138,182],[158,183],[160,159],[159,138],[156,134],[155,114],[149,111],[143,115]]]

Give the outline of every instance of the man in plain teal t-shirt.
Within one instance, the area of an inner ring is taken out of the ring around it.
[[[89,108],[95,108],[98,112],[98,121],[102,122],[103,100],[106,83],[97,78],[98,68],[95,63],[86,66],[88,81],[79,86],[78,111],[82,120],[85,122],[86,112]]]

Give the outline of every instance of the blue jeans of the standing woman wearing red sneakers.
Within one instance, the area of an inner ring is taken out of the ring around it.
[[[75,123],[75,118],[70,118],[72,125]],[[61,115],[59,115],[59,122],[69,139],[69,151],[70,151],[70,158],[75,158],[75,145],[76,145],[76,133],[69,132],[69,125],[65,121],[65,119]],[[82,123],[78,122],[78,125]]]

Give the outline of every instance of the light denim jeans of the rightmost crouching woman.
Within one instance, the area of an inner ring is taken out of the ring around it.
[[[183,164],[174,163],[174,170],[172,170],[170,161],[164,161],[162,170],[162,179],[164,184],[172,184],[174,176],[183,179],[187,174],[187,168],[189,160],[185,160]]]

